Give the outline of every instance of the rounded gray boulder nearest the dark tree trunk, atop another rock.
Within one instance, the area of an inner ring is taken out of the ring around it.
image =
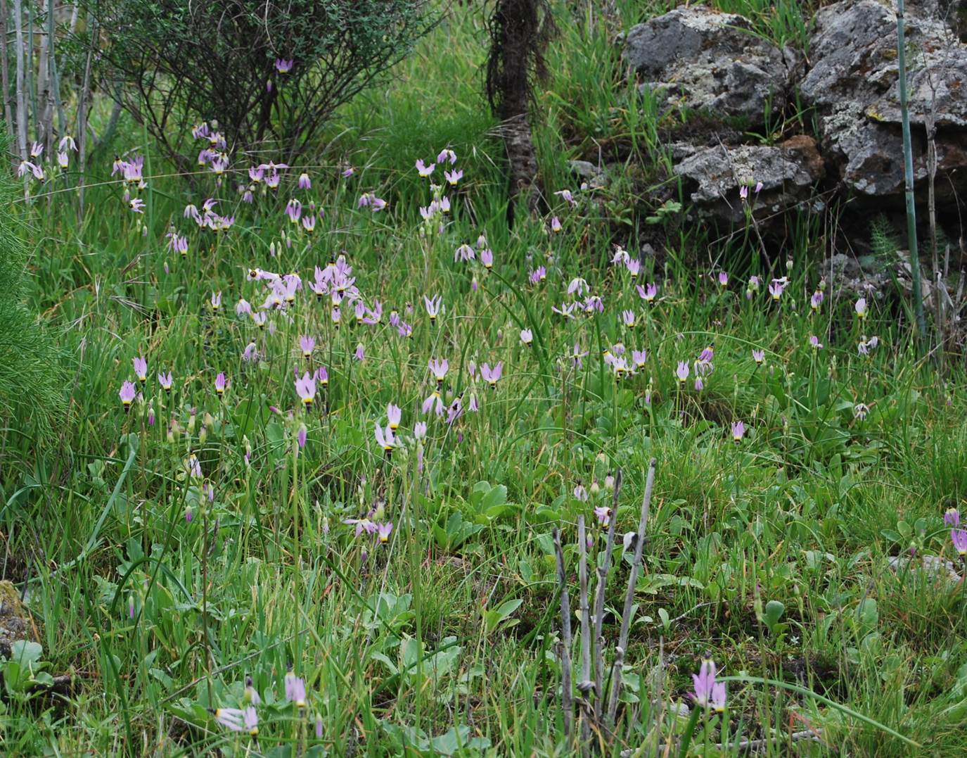
[[[662,102],[741,116],[761,126],[784,106],[797,56],[751,33],[742,15],[676,8],[630,29],[623,55]]]

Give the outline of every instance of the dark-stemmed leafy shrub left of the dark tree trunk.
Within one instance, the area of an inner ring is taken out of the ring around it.
[[[434,23],[427,0],[95,0],[104,80],[172,157],[194,120],[290,157]],[[291,69],[281,72],[291,62]]]

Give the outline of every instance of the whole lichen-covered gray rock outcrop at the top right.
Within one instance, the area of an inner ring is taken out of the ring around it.
[[[941,212],[967,197],[967,44],[958,32],[965,8],[963,0],[907,6],[915,180],[919,191],[931,132]],[[751,210],[757,220],[781,220],[792,208],[821,211],[836,195],[857,208],[902,206],[894,8],[876,0],[823,7],[811,29],[807,68],[796,53],[753,34],[747,18],[704,6],[677,8],[633,27],[624,59],[642,87],[668,107],[718,119],[722,135],[736,134],[729,127],[737,119],[753,131],[770,112],[791,113],[795,93],[797,105],[815,113],[816,134],[779,144],[726,136],[709,142],[686,132],[685,141],[671,146],[672,170],[682,177],[695,215],[734,224]],[[762,192],[747,204],[741,188],[758,182]]]

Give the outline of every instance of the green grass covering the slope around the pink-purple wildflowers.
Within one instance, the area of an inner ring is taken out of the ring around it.
[[[871,297],[863,322],[852,302],[831,297],[810,311],[813,261],[827,245],[819,225],[800,225],[777,257],[790,256],[792,268],[770,271],[752,237],[707,247],[706,229],[675,218],[641,223],[654,210],[642,188],[663,181],[661,125],[647,104],[638,107],[609,42],[640,10],[585,8],[561,24],[538,107],[545,189],[576,190],[566,161],[596,160],[598,144],[614,146],[627,171],[578,194],[575,209],[549,196],[558,234],[548,219],[504,227],[503,149],[479,94],[485,36],[475,7],[454,8],[393,81],[339,114],[307,161],[311,191],[295,190],[293,174],[278,198],[249,206],[234,182],[218,189],[202,177],[190,192],[177,178],[150,178],[139,216],[109,182],[104,154],[81,223],[72,191],[22,207],[31,301],[69,353],[71,413],[53,442],[35,440],[29,418],[2,425],[4,575],[26,583],[41,629],[38,663],[73,672],[76,686],[66,698],[40,697],[17,689],[12,664],[0,664],[8,667],[5,752],[572,754],[551,530],[563,534],[576,609],[577,517],[592,531],[594,560],[604,531],[593,507],[609,502],[608,475],[623,473],[620,535],[637,523],[652,457],[629,687],[605,754],[680,737],[686,719],[670,707],[691,705],[690,675],[706,654],[733,679],[724,718],[694,725],[692,754],[713,754],[704,745],[722,741],[736,754],[739,739],[774,737],[768,754],[785,755],[786,735],[804,729],[822,735],[798,743],[811,755],[963,749],[963,585],[889,567],[911,542],[919,555],[957,562],[942,515],[967,497],[962,371],[940,378],[917,360],[893,293]],[[413,164],[447,145],[465,176],[447,193],[453,210],[438,233],[422,224],[419,207],[431,196]],[[113,147],[146,154],[146,166],[164,172],[130,126]],[[348,180],[338,175],[346,164],[356,167]],[[389,207],[358,208],[370,191]],[[205,197],[236,214],[219,238],[182,216]],[[311,236],[282,215],[289,197],[325,210]],[[189,235],[187,258],[166,250],[171,225]],[[481,233],[493,269],[454,263],[454,249]],[[608,262],[616,241],[632,256],[651,241],[659,256],[631,279]],[[272,316],[274,333],[236,318],[239,298],[253,307],[265,298],[249,268],[298,271],[308,286],[313,267],[340,252],[366,304],[383,303],[378,325],[356,324],[343,308],[334,328],[308,287],[291,323]],[[528,272],[538,265],[547,278],[533,286]],[[713,280],[719,270],[731,276],[726,288]],[[790,284],[774,303],[765,288],[784,274]],[[765,281],[747,299],[751,275]],[[552,311],[571,300],[574,277],[601,296],[600,315]],[[652,281],[659,298],[648,306],[635,284]],[[222,293],[217,313],[213,290]],[[436,323],[425,294],[446,304]],[[633,328],[621,323],[625,309],[636,312]],[[389,325],[392,310],[412,324],[412,338]],[[533,331],[531,346],[520,343],[521,328]],[[309,368],[302,334],[318,343],[311,367],[325,365],[330,377],[311,409],[293,385],[293,368]],[[825,347],[810,349],[810,335]],[[874,335],[879,346],[858,354],[861,338]],[[261,353],[254,364],[241,359],[250,341]],[[620,380],[602,357],[616,343],[648,351],[644,367]],[[588,352],[580,369],[575,344]],[[680,386],[677,362],[710,344],[715,369],[704,388],[693,388],[693,375]],[[765,351],[762,366],[752,349]],[[148,380],[126,413],[118,390],[134,379],[138,355],[148,359]],[[471,395],[480,404],[453,426],[420,409],[434,357],[450,362],[444,402],[463,393],[464,406]],[[498,360],[496,388],[471,378],[471,361]],[[170,395],[155,379],[168,370]],[[229,379],[222,398],[219,372]],[[376,444],[389,403],[402,409],[404,440],[428,422],[423,470],[415,442],[392,457]],[[864,419],[858,403],[870,408]],[[734,420],[748,429],[739,444]],[[190,476],[190,454],[203,480]],[[578,484],[589,501],[575,498]],[[394,523],[386,545],[343,523],[371,508],[375,520]],[[617,557],[605,601],[609,645],[630,569],[630,558]],[[289,666],[307,683],[302,716],[283,697]],[[257,743],[205,712],[239,707],[247,676],[262,699]]]

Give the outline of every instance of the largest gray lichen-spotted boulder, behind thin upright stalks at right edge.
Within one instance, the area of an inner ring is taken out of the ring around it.
[[[924,0],[908,11],[906,26],[915,178],[926,178],[925,123],[932,113],[943,207],[967,191],[967,45],[943,18],[926,15],[939,5]],[[809,57],[800,93],[820,113],[824,155],[857,196],[899,204],[904,183],[894,10],[874,0],[821,9]]]

